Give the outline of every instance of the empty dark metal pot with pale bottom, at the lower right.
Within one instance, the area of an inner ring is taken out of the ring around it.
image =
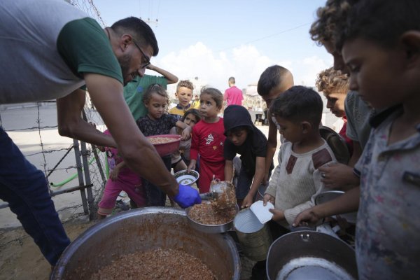
[[[356,255],[344,241],[321,232],[290,232],[267,255],[267,276],[278,279],[358,279]]]

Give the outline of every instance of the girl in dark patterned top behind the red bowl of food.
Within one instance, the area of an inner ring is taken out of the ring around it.
[[[167,114],[169,97],[161,85],[149,86],[144,92],[143,103],[148,109],[148,113],[137,120],[137,125],[144,136],[169,134],[169,130],[176,126],[183,130],[181,133],[182,140],[190,138],[190,126],[178,120],[176,116]],[[167,155],[162,160],[165,162],[167,169],[171,170],[171,156]],[[166,194],[146,180],[143,180],[143,183],[146,189],[147,205],[165,206]]]

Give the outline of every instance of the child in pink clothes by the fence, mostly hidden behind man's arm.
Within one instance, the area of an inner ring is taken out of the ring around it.
[[[108,130],[105,130],[104,134],[111,135]],[[117,197],[123,190],[130,197],[130,200],[133,200],[137,204],[137,207],[145,207],[146,197],[139,175],[125,166],[123,159],[118,156],[116,148],[98,148],[101,151],[106,151],[110,171],[109,179],[106,181],[104,195],[99,202],[98,218],[106,218],[106,216],[112,213]]]

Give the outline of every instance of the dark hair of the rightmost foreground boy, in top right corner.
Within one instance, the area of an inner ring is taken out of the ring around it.
[[[337,49],[353,38],[392,47],[404,32],[420,31],[419,15],[419,0],[358,1],[349,11],[344,28],[337,30]]]

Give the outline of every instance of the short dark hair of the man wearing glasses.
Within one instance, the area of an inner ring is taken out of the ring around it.
[[[151,45],[153,48],[153,56],[155,57],[159,53],[158,41],[156,40],[155,33],[150,26],[139,18],[125,18],[118,20],[111,26],[113,31],[116,31],[118,35],[130,34],[134,37],[141,47],[146,48]]]

